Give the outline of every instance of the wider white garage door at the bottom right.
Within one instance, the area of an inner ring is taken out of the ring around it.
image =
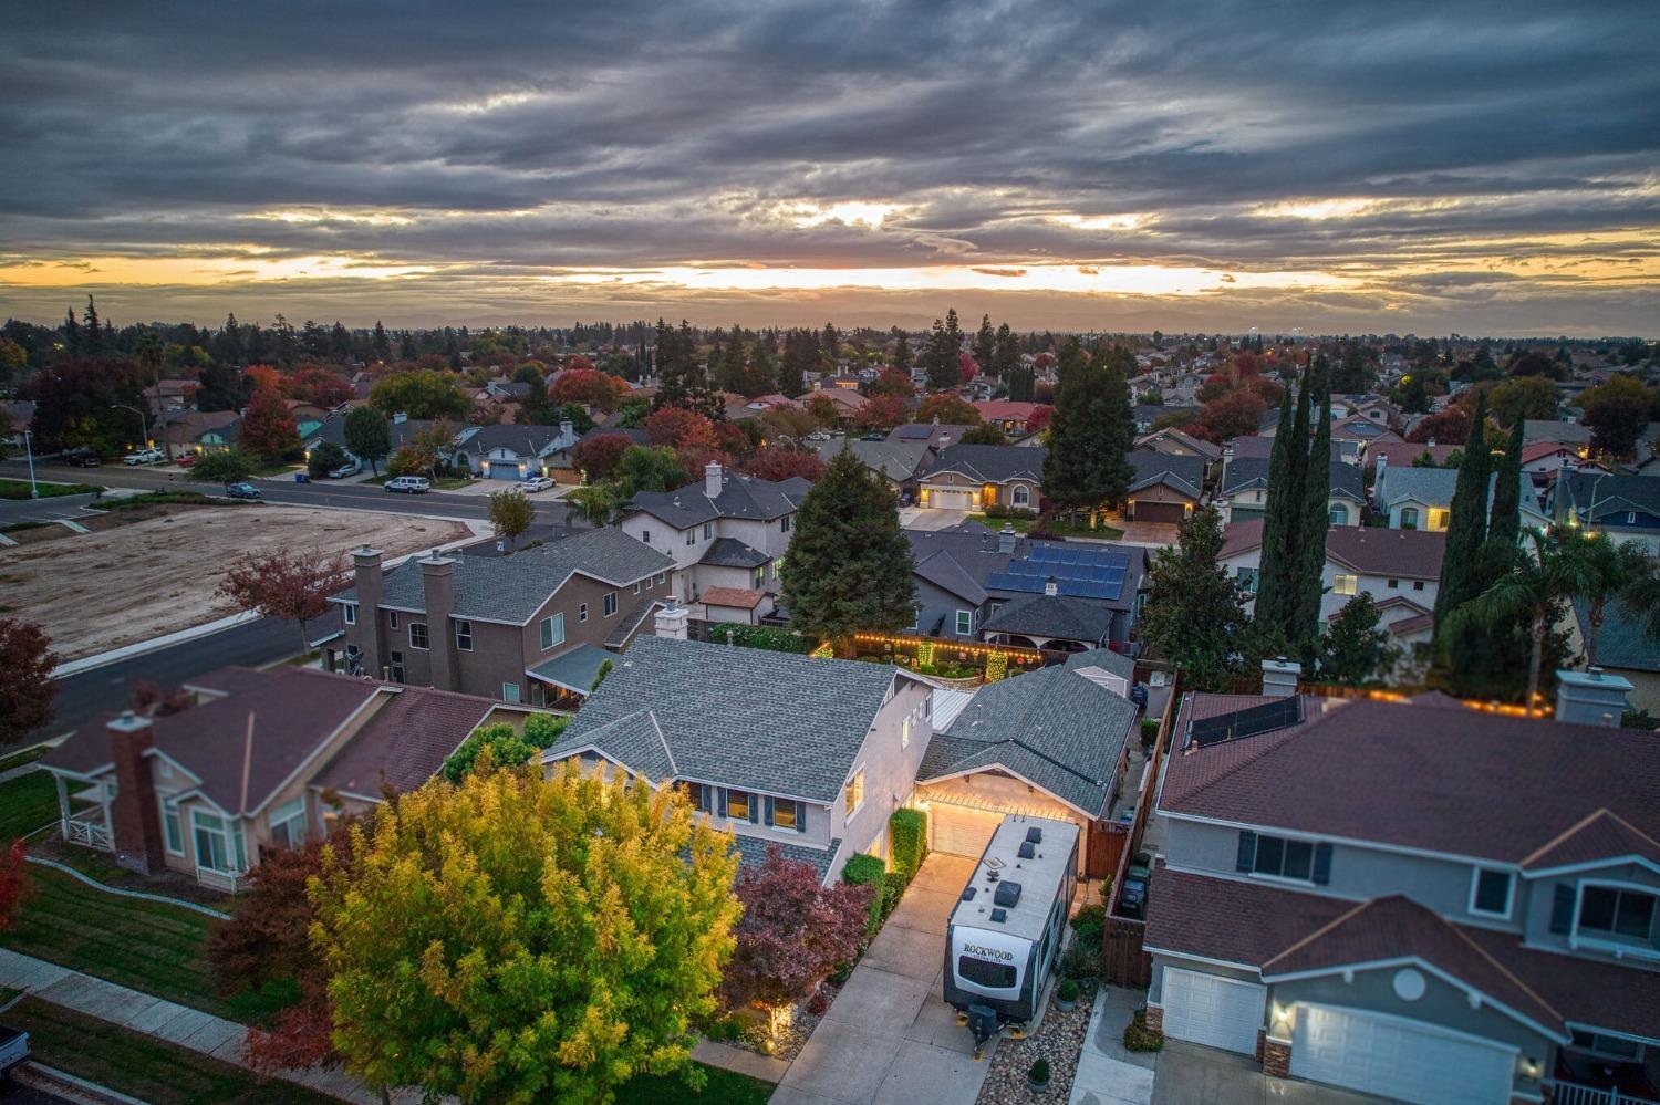
[[[1514,1070],[1516,1050],[1501,1044],[1350,1009],[1296,1007],[1296,1078],[1416,1105],[1502,1105]]]

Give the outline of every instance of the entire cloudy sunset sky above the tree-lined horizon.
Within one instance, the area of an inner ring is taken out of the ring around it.
[[[1660,3],[12,5],[0,315],[1660,332]]]

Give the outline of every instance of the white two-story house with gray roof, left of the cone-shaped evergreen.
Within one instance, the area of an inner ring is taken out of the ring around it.
[[[715,621],[725,609],[702,611],[710,587],[757,592],[752,609],[764,617],[779,592],[779,561],[790,548],[790,524],[810,489],[800,478],[755,479],[710,463],[702,483],[636,494],[621,528],[672,559],[669,592],[684,597],[699,617]]]

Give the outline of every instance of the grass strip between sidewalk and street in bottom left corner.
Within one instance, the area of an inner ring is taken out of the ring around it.
[[[322,1105],[335,1098],[81,1015],[38,997],[7,1010],[8,1027],[28,1032],[35,1059],[78,1078],[153,1105]]]

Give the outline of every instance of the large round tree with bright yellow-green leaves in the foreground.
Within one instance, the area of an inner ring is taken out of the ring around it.
[[[737,859],[674,788],[481,763],[385,806],[354,851],[310,884],[312,942],[370,1085],[603,1102],[636,1073],[697,1078]]]

